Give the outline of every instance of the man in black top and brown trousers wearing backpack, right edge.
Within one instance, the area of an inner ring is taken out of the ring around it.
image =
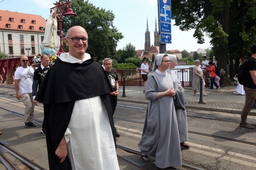
[[[248,113],[252,110],[253,103],[256,102],[256,44],[252,46],[252,56],[244,64],[244,76],[246,76],[244,82],[245,105],[241,113],[240,126],[253,129],[254,126],[247,124],[246,121]]]

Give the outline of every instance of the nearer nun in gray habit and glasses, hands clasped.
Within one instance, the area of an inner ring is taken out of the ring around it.
[[[167,56],[167,57],[166,57]],[[177,118],[172,95],[165,94],[173,89],[173,81],[170,74],[159,71],[163,65],[169,65],[166,60],[168,55],[158,54],[155,58],[152,73],[146,85],[146,99],[149,100],[142,138],[138,146],[141,148],[142,159],[145,155],[155,157],[156,166],[159,168],[182,166],[181,150]],[[169,58],[168,58],[169,60]],[[158,69],[158,67],[160,68]],[[169,67],[169,66],[168,66]],[[165,93],[160,93],[165,92]],[[175,93],[173,93],[175,94]]]

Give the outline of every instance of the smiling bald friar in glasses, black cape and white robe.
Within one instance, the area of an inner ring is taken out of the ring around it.
[[[113,88],[81,26],[67,31],[68,53],[47,72],[35,100],[44,104],[49,169],[119,169],[109,93]],[[65,168],[64,168],[65,167]]]

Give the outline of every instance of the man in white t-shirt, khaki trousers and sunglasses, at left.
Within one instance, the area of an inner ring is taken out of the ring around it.
[[[25,126],[27,128],[35,127],[36,125],[32,122],[34,118],[34,102],[32,95],[32,84],[35,70],[35,64],[28,67],[28,58],[22,56],[20,58],[21,67],[19,67],[14,73],[14,83],[16,98],[22,100],[25,105]]]

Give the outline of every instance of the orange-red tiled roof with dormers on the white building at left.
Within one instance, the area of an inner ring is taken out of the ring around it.
[[[0,10],[0,17],[0,29],[45,32],[41,31],[41,27],[45,28],[46,20],[40,15]],[[13,22],[11,22],[10,18],[13,18]],[[22,20],[25,20],[25,23]],[[32,21],[35,21],[35,24]],[[11,28],[8,28],[7,24],[10,24]],[[20,25],[23,29],[20,29]],[[31,26],[34,27],[33,30],[31,30]]]

